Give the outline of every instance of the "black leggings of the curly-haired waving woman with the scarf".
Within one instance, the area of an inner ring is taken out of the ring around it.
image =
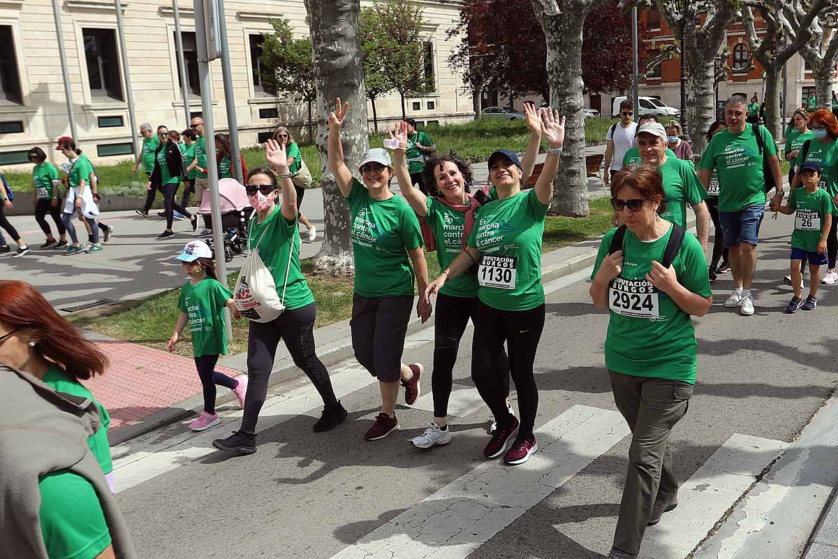
[[[460,348],[460,339],[468,325],[477,322],[479,300],[476,297],[452,297],[440,293],[437,295],[437,318],[434,321],[433,334],[433,416],[447,417],[448,398],[453,385],[454,363]],[[500,360],[495,365],[503,383],[504,400],[510,396],[510,362],[503,346],[500,348]]]

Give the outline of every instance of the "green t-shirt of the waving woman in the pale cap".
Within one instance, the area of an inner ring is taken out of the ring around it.
[[[363,297],[413,295],[415,275],[407,251],[422,246],[422,231],[410,204],[396,194],[372,199],[358,179],[352,179],[346,201],[352,217],[354,292]]]

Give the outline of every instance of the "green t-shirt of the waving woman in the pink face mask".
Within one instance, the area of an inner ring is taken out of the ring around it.
[[[288,251],[291,250],[293,243],[294,252],[291,256],[291,268],[288,270],[285,308],[293,310],[314,303],[314,294],[308,288],[303,270],[300,269],[300,233],[297,230],[297,220],[288,223],[277,205],[273,206],[271,214],[261,223],[257,223],[259,216],[256,212],[253,212],[253,215],[248,225],[251,248],[256,248],[256,243],[259,243],[259,257],[271,271],[280,298],[282,298],[282,286],[285,285]]]

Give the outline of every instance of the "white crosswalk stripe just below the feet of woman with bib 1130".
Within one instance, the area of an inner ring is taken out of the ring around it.
[[[535,432],[539,452],[527,463],[483,463],[333,559],[468,556],[628,434],[618,412],[573,406]]]

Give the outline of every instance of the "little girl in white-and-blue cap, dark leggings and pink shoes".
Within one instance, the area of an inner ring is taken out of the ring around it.
[[[212,251],[204,241],[191,241],[184,246],[175,259],[183,262],[189,282],[180,290],[178,308],[180,316],[174,326],[174,333],[168,340],[168,350],[173,351],[186,323],[192,333],[192,353],[201,385],[204,386],[204,411],[189,428],[205,431],[220,423],[215,413],[215,385],[225,386],[235,393],[239,405],[244,408],[247,392],[247,376],[231,379],[215,370],[219,355],[227,353],[227,335],[224,324],[224,308],[238,317],[233,294],[215,277],[215,262]]]

